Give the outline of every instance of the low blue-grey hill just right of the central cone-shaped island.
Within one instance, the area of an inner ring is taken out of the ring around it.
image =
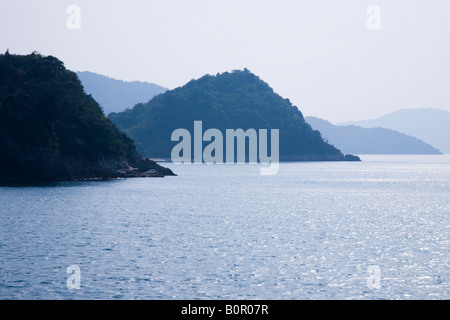
[[[316,117],[305,117],[313,129],[319,130],[329,143],[344,153],[352,154],[441,154],[433,146],[417,138],[384,128],[337,126]]]

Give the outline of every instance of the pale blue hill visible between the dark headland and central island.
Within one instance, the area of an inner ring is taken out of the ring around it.
[[[147,102],[167,90],[154,83],[116,80],[89,71],[76,74],[85,92],[92,95],[106,115],[124,111],[139,102]]]

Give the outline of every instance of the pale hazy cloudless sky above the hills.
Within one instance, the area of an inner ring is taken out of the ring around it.
[[[0,0],[0,51],[170,89],[246,67],[304,115],[341,122],[450,111],[449,16],[448,0]]]

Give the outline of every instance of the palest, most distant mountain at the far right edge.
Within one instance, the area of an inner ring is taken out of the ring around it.
[[[450,112],[439,109],[403,109],[381,118],[349,122],[363,128],[382,127],[419,138],[450,153]]]

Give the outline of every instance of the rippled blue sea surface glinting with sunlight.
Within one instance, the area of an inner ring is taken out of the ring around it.
[[[0,187],[0,299],[450,299],[450,156],[362,159]]]

